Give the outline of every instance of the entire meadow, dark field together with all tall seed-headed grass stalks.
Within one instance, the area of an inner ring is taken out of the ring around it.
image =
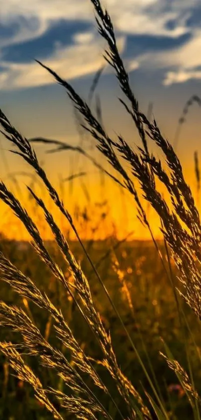
[[[199,420],[201,221],[174,147],[189,107],[200,105],[200,98],[193,96],[185,105],[173,147],[156,120],[140,111],[110,16],[99,0],[91,3],[108,46],[105,58],[126,98],[120,99],[122,113],[133,120],[141,147],[132,148],[121,135],[110,138],[100,103],[95,116],[89,107],[91,97],[87,104],[61,75],[38,65],[65,89],[78,112],[78,124],[109,163],[107,170],[81,147],[77,152],[131,195],[137,217],[152,239],[120,240],[114,231],[98,240],[91,220],[96,217],[97,226],[107,232],[105,204],[96,206],[92,219],[90,205],[79,217],[77,209],[70,214],[33,148],[38,142],[53,145],[54,151],[72,146],[26,139],[0,109],[2,134],[40,179],[74,235],[72,239],[66,229],[62,231],[30,185],[30,204],[34,202],[34,212],[37,208],[54,238],[43,240],[29,209],[0,182],[0,199],[31,238],[31,243],[8,240],[3,234],[0,238],[0,418]],[[101,70],[91,96],[100,76]],[[165,159],[150,153],[148,139]],[[195,177],[199,196],[197,152]],[[160,192],[161,185],[169,199]],[[145,201],[158,215],[160,241],[154,237]],[[80,228],[91,232],[90,240],[81,239]]]

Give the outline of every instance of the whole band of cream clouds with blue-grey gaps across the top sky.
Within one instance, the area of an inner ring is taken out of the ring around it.
[[[104,4],[114,22],[122,53],[128,36],[152,39],[150,52],[147,49],[137,54],[126,52],[129,71],[139,66],[146,68],[148,64],[150,68],[164,69],[165,85],[185,82],[190,78],[201,79],[199,0],[192,0],[191,6],[189,0],[107,0]],[[59,31],[55,32],[54,39],[51,32],[55,24],[59,27],[60,22],[66,22],[66,28],[68,23],[77,22],[76,27],[71,25],[69,31],[66,29],[66,40],[59,38]],[[87,23],[85,31],[81,29],[83,22]],[[185,34],[189,37],[174,51],[174,43],[177,44],[177,40]],[[46,40],[48,36],[51,48],[45,51],[44,37]],[[160,51],[154,50],[154,40],[157,45],[160,38],[173,40],[169,49],[163,50],[161,43]],[[34,40],[37,40],[35,50]],[[31,48],[38,52],[34,58],[42,60],[62,77],[73,79],[92,74],[102,66],[104,47],[97,35],[90,0],[7,0],[1,7],[0,15],[0,89],[54,83],[30,59]]]

